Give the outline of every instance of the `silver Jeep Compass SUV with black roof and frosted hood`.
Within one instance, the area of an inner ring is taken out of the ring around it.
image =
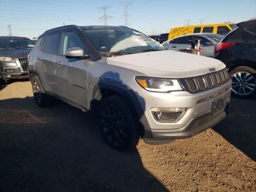
[[[231,84],[215,59],[166,50],[123,26],[62,26],[44,32],[29,57],[34,98],[52,96],[96,114],[110,146],[129,150],[140,138],[166,144],[222,120]]]

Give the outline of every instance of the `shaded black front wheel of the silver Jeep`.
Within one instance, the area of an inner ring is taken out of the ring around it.
[[[120,96],[104,99],[97,111],[100,131],[108,144],[119,151],[135,148],[140,134],[128,105]]]

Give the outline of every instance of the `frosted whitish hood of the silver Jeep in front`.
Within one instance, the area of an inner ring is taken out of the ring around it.
[[[107,64],[128,68],[151,77],[188,78],[225,68],[219,60],[173,50],[109,57]]]

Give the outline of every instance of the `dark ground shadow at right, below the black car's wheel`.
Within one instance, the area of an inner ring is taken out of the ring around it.
[[[231,97],[230,113],[213,129],[256,161],[256,98]]]

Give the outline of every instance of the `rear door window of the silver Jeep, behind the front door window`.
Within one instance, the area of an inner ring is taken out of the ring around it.
[[[55,33],[48,35],[44,43],[44,51],[48,53],[57,54],[59,45],[60,34]]]

